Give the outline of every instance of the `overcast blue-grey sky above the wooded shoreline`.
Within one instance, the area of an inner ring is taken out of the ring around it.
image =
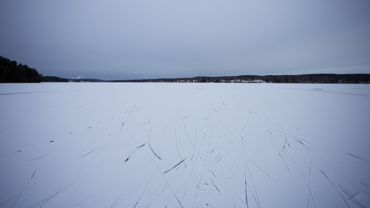
[[[9,0],[0,56],[99,79],[370,73],[369,0]]]

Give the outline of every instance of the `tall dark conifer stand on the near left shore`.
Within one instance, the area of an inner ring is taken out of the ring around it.
[[[42,74],[39,74],[36,68],[30,68],[0,56],[1,83],[40,83],[41,76]]]

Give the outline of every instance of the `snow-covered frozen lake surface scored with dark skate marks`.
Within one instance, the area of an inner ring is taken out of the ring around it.
[[[0,207],[370,207],[370,85],[0,84]]]

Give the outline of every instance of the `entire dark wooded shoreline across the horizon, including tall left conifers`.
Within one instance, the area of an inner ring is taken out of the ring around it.
[[[18,64],[9,58],[0,56],[1,83],[40,83],[44,82],[230,82],[231,80],[263,80],[266,83],[370,83],[370,74],[302,74],[302,75],[240,75],[224,77],[191,77],[191,78],[160,78],[143,80],[98,80],[98,79],[66,79],[42,76],[35,68]],[[238,81],[237,81],[238,82]]]

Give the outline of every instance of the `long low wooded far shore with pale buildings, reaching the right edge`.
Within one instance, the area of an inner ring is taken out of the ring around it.
[[[263,80],[266,83],[367,83],[370,74],[302,74],[302,75],[240,75],[230,77],[192,77],[192,78],[161,78],[145,80],[113,80],[110,82],[229,82],[231,80]]]

